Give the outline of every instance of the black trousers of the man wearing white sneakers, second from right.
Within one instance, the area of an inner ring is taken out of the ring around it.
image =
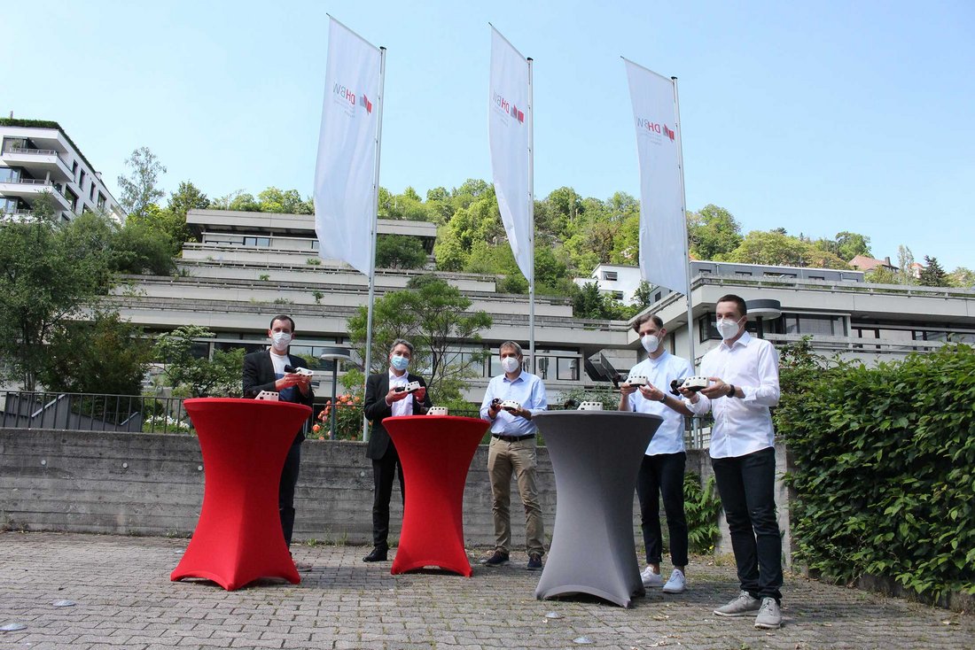
[[[643,456],[637,476],[640,497],[640,522],[646,563],[659,564],[663,555],[660,533],[660,495],[664,498],[667,530],[670,533],[671,562],[687,565],[687,520],[683,514],[683,469],[687,454],[654,454]]]

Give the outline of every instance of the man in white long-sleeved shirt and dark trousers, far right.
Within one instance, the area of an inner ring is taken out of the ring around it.
[[[782,624],[782,538],[775,516],[775,433],[769,407],[779,402],[779,356],[772,345],[745,331],[745,301],[722,296],[716,308],[722,343],[701,360],[710,384],[682,390],[695,414],[708,410],[711,465],[731,533],[741,592],[715,610],[718,616],[758,611],[756,628]]]

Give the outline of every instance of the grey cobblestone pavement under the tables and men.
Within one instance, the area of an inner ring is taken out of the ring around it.
[[[698,560],[690,589],[623,609],[539,601],[526,556],[474,577],[392,576],[361,547],[296,546],[302,582],[237,592],[172,583],[186,540],[0,533],[0,649],[31,648],[975,648],[975,617],[787,577],[784,627],[712,614],[736,592],[731,566]],[[481,551],[472,553],[476,560]],[[472,564],[474,562],[472,561]],[[69,599],[77,604],[55,607]],[[558,618],[549,618],[555,613]],[[585,636],[591,644],[578,643]]]

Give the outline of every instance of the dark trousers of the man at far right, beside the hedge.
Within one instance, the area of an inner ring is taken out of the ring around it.
[[[775,516],[775,449],[712,458],[741,589],[782,599],[782,537]]]

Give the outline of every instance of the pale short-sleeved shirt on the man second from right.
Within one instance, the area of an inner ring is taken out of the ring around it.
[[[644,359],[630,368],[631,375],[643,375],[656,388],[664,393],[670,392],[670,383],[674,379],[683,379],[694,374],[690,362],[675,357],[666,350],[656,359]],[[683,451],[683,415],[663,402],[647,400],[638,390],[629,397],[631,411],[659,415],[664,419],[660,428],[653,434],[646,455],[676,454]]]

